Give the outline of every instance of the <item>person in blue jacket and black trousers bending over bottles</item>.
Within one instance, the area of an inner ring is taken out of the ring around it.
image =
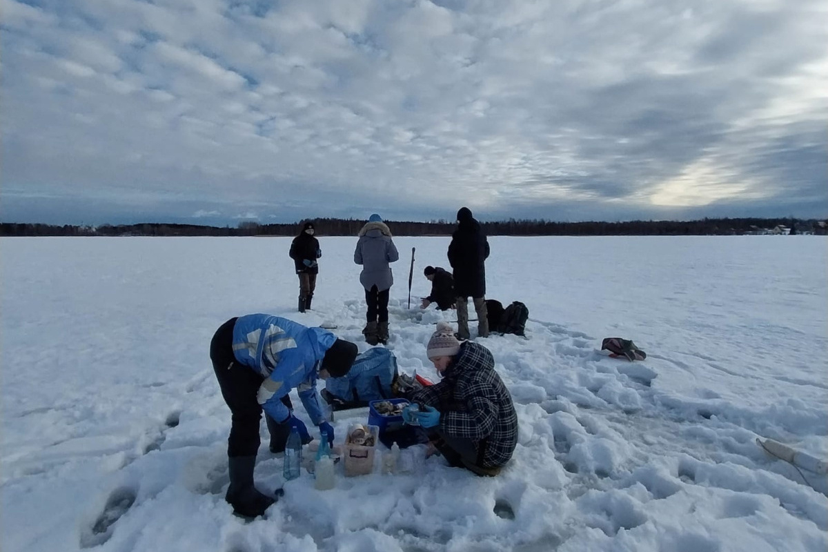
[[[232,318],[216,330],[209,356],[233,415],[227,449],[230,486],[224,499],[236,514],[261,516],[276,502],[276,497],[253,486],[262,410],[271,434],[271,452],[284,451],[293,428],[303,444],[313,439],[304,422],[293,415],[288,393],[294,388],[310,420],[333,442],[334,428],[325,420],[316,379],[344,376],[357,352],[354,343],[325,329],[270,314]]]

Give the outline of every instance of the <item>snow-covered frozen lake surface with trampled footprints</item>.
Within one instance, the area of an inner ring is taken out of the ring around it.
[[[527,339],[479,339],[517,408],[508,468],[431,457],[325,492],[304,473],[267,519],[232,516],[209,339],[266,312],[365,350],[355,242],[320,237],[298,314],[290,238],[4,238],[0,549],[828,549],[826,477],[754,442],[828,457],[828,242],[810,236],[489,238],[487,295],[530,310]],[[453,313],[417,307],[449,238],[395,242],[388,348],[435,379],[425,345]],[[647,360],[607,357],[605,337]],[[258,485],[280,487],[262,438]]]

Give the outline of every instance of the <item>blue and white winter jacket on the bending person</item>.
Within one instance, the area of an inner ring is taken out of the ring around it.
[[[325,421],[316,393],[316,377],[325,353],[336,336],[321,328],[308,328],[271,314],[246,314],[233,326],[233,356],[264,378],[258,391],[262,409],[277,422],[290,410],[282,397],[296,388],[315,425]]]

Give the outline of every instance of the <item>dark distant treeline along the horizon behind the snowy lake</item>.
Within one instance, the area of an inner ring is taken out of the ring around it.
[[[353,218],[315,218],[316,233],[355,236],[365,221]],[[295,236],[301,222],[290,224],[239,223],[235,228],[195,224],[140,223],[73,226],[65,224],[0,223],[0,236]],[[396,236],[445,236],[453,221],[428,223],[386,221]],[[768,233],[789,228],[791,233],[826,234],[826,223],[797,218],[705,218],[703,220],[633,220],[622,223],[559,223],[547,220],[515,220],[481,223],[489,236],[707,236]]]

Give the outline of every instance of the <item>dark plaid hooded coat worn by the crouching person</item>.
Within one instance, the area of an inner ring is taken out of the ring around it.
[[[517,444],[517,413],[512,396],[494,371],[489,349],[465,342],[442,381],[416,391],[412,402],[440,410],[440,433],[472,439],[483,468],[512,458]]]

